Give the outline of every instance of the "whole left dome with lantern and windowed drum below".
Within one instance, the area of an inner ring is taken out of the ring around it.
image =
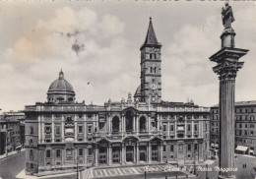
[[[59,73],[59,79],[55,80],[47,91],[48,102],[74,102],[75,91],[71,84],[64,79],[64,73]]]

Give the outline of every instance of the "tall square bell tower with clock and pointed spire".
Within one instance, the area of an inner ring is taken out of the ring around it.
[[[141,46],[141,101],[160,103],[161,101],[161,67],[160,47],[153,29],[152,18],[145,42]]]

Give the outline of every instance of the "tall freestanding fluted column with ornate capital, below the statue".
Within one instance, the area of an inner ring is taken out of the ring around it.
[[[229,22],[231,24],[231,22]],[[220,79],[220,151],[219,167],[234,168],[234,87],[237,71],[242,68],[243,62],[239,58],[249,50],[234,48],[235,32],[230,27],[224,27],[221,35],[222,48],[210,57],[217,63],[213,68]],[[219,178],[235,178],[233,171],[220,171]]]

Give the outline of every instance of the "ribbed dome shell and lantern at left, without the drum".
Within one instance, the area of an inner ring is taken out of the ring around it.
[[[55,80],[49,87],[48,92],[50,91],[70,91],[75,92],[71,84],[64,79],[64,73],[59,73],[59,79]]]

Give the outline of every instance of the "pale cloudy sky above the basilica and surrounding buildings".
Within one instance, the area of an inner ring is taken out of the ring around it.
[[[235,100],[256,99],[256,3],[230,1],[240,59]],[[62,69],[76,100],[102,105],[140,85],[140,47],[152,17],[161,47],[162,100],[210,107],[219,80],[209,57],[221,49],[224,1],[0,0],[0,108],[46,101]]]

